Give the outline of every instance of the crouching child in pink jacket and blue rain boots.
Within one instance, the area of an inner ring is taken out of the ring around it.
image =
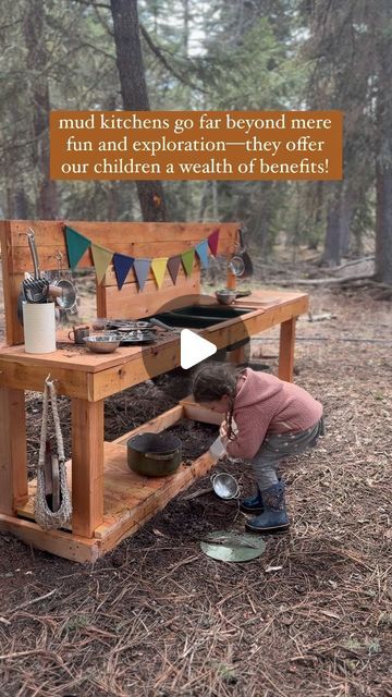
[[[250,368],[234,370],[224,363],[201,365],[193,379],[193,395],[203,406],[225,414],[220,436],[228,454],[253,465],[257,493],[244,499],[241,509],[259,515],[246,528],[286,529],[284,486],[277,466],[316,445],[323,433],[321,404],[292,382]]]

